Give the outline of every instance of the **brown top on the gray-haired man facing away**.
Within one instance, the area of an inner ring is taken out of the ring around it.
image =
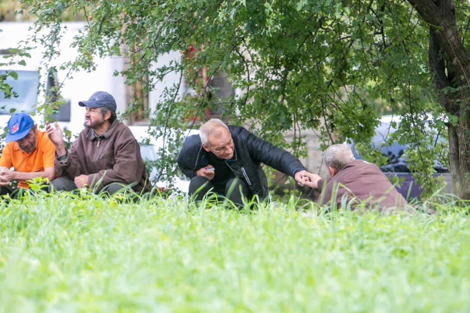
[[[341,199],[346,198],[346,202],[351,203],[354,210],[360,202],[366,202],[370,207],[380,211],[383,208],[406,207],[406,200],[393,187],[388,178],[375,165],[363,160],[354,160],[343,167],[333,178],[328,178],[326,183],[320,179],[318,181],[318,204],[327,204],[332,195],[334,203],[339,208]],[[360,201],[359,201],[360,200]],[[333,203],[330,203],[333,205]]]

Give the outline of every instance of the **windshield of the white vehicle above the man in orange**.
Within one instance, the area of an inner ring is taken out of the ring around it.
[[[15,96],[9,99],[5,98],[5,94],[0,91],[0,114],[10,114],[14,109],[16,112],[29,113],[37,102],[37,84],[39,76],[36,71],[18,70],[18,79],[7,76],[4,83],[7,83]],[[4,70],[0,70],[0,75],[4,74]]]

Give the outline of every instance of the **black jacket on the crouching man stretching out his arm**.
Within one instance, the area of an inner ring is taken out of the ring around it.
[[[235,146],[235,161],[225,162],[236,177],[243,180],[251,193],[263,200],[268,195],[267,180],[260,163],[293,176],[305,170],[302,163],[285,150],[259,139],[240,126],[228,126]],[[177,163],[184,175],[196,176],[196,171],[207,166],[207,153],[201,145],[199,135],[186,138],[179,151]]]

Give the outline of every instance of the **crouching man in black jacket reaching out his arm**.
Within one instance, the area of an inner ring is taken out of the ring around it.
[[[243,127],[227,126],[219,119],[204,123],[199,135],[186,138],[177,158],[188,178],[189,195],[201,200],[210,190],[240,206],[242,197],[267,197],[267,180],[261,163],[302,182],[309,173],[302,163]]]

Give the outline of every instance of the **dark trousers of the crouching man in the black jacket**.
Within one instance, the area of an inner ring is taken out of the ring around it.
[[[224,196],[233,204],[235,204],[238,208],[241,208],[242,205],[242,197],[246,197],[248,195],[248,187],[246,183],[239,178],[230,179],[225,184],[225,191],[217,192],[213,189],[213,185],[204,176],[195,176],[191,179],[189,183],[189,190],[188,194],[191,196],[195,201],[200,201],[208,192],[213,192],[216,195]]]

